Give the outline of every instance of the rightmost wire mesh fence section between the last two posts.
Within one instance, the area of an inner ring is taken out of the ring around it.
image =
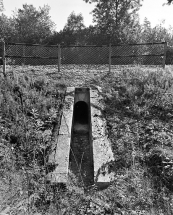
[[[112,46],[112,65],[165,66],[166,43],[127,44]]]

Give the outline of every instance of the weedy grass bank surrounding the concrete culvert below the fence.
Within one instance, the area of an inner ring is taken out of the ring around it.
[[[65,86],[101,87],[115,179],[84,193],[45,181]],[[0,80],[0,211],[8,214],[173,214],[172,67],[8,68]]]

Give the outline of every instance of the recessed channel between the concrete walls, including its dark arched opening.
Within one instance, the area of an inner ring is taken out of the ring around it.
[[[69,168],[78,183],[87,187],[94,183],[90,92],[88,89],[76,89],[75,97]]]

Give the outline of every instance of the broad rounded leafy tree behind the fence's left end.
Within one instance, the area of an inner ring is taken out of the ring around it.
[[[52,34],[55,24],[49,16],[50,7],[44,5],[37,10],[33,5],[24,4],[14,13],[17,40],[26,43],[42,43]]]

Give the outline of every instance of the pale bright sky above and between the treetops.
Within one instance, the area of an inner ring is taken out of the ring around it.
[[[39,6],[48,4],[51,7],[51,19],[55,22],[57,31],[63,29],[72,11],[75,14],[82,13],[85,26],[88,27],[93,24],[91,11],[94,9],[94,4],[85,3],[83,0],[3,0],[3,2],[4,13],[7,16],[11,16],[15,9],[22,8],[25,3],[32,4],[37,9]],[[164,19],[165,27],[168,28],[170,25],[173,27],[173,5],[162,6],[164,3],[166,3],[166,0],[143,0],[139,11],[140,22],[142,23],[144,18],[147,17],[151,26],[154,27]]]

